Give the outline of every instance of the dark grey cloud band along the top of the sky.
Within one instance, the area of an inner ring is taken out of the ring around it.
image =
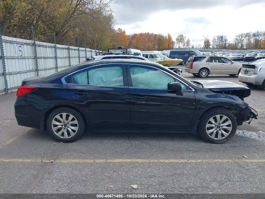
[[[135,22],[145,21],[152,14],[163,10],[178,11],[183,9],[208,9],[218,6],[229,5],[236,8],[264,3],[264,0],[118,0],[112,5],[114,15],[119,25],[128,25]],[[225,10],[222,13],[227,13]],[[190,13],[186,13],[189,15]],[[164,16],[167,18],[167,16]],[[176,16],[178,18],[178,16]]]

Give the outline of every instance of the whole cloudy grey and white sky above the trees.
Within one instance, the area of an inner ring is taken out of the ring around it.
[[[126,34],[153,32],[196,41],[265,30],[265,0],[117,0],[112,5],[115,29]]]

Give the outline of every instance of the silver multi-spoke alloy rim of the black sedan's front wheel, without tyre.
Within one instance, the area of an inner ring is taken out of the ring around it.
[[[232,131],[232,122],[225,115],[215,115],[206,123],[206,133],[214,140],[226,138]]]

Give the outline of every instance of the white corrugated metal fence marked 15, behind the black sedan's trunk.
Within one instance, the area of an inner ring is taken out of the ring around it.
[[[16,91],[26,78],[51,75],[103,53],[90,48],[39,41],[34,44],[32,40],[1,35],[0,45],[0,95]]]

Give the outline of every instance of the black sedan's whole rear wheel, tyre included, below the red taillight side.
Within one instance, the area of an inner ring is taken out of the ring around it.
[[[58,108],[47,118],[47,130],[57,141],[76,141],[85,130],[85,121],[82,114],[72,108]]]

